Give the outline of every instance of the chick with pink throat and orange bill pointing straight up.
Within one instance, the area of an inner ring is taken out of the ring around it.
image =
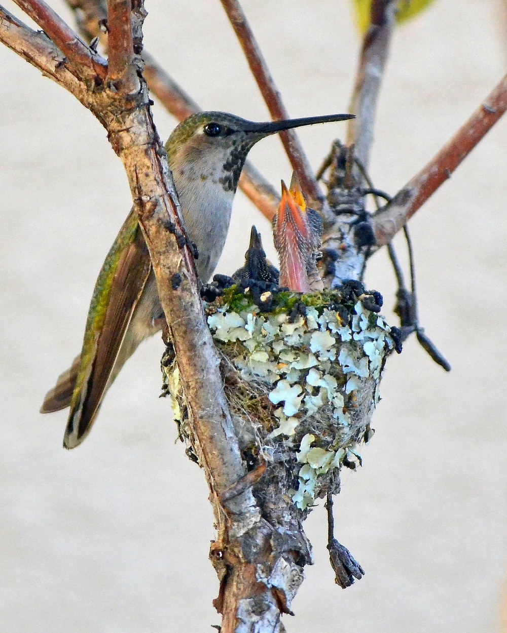
[[[296,292],[324,288],[317,268],[322,218],[307,206],[296,172],[290,189],[281,181],[281,201],[273,218],[273,242],[280,260],[279,285]]]

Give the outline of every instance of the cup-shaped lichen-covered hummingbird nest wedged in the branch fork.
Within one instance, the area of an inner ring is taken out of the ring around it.
[[[254,293],[225,289],[206,312],[221,356],[224,390],[251,469],[262,457],[285,465],[302,511],[338,492],[342,466],[361,464],[361,444],[396,331],[379,315],[382,296],[359,282],[333,291]],[[260,306],[259,306],[260,304]],[[180,437],[195,454],[174,354],[162,363]]]

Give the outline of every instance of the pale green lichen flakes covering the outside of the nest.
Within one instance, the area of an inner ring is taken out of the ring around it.
[[[302,303],[311,298],[311,304],[305,303],[304,315],[292,316],[296,300],[289,294],[286,311],[278,304],[271,313],[237,299],[233,291],[229,295],[209,315],[210,330],[241,378],[262,381],[269,401],[279,405],[271,411],[278,425],[271,424],[264,442],[286,437],[286,446],[299,447],[299,486],[292,498],[304,510],[321,494],[319,478],[343,460],[361,463],[357,442],[369,427],[383,361],[394,347],[390,328],[361,301],[347,304],[345,317],[338,313],[332,306],[340,302],[339,293],[326,295],[326,305],[316,296],[300,296]],[[354,417],[356,410],[361,419]]]

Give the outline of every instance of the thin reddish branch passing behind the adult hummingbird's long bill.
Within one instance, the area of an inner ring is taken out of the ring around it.
[[[257,44],[252,29],[250,25],[248,25],[247,18],[243,13],[243,9],[241,9],[240,3],[238,3],[238,0],[221,0],[221,3],[240,41],[250,70],[255,77],[255,81],[259,86],[264,101],[266,101],[271,116],[274,120],[289,118],[288,112],[281,101],[280,93],[267,67],[266,60],[264,60],[260,52],[259,44]],[[324,204],[324,196],[304,149],[298,141],[297,134],[294,130],[286,130],[280,133],[280,137],[290,163],[297,172],[302,189],[314,203],[321,206]]]

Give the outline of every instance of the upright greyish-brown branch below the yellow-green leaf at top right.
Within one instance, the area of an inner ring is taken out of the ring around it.
[[[394,29],[396,4],[393,0],[374,0],[371,5],[371,24],[364,36],[350,101],[350,112],[356,118],[351,119],[347,126],[347,145],[355,146],[354,154],[366,170],[373,143],[378,94]]]

